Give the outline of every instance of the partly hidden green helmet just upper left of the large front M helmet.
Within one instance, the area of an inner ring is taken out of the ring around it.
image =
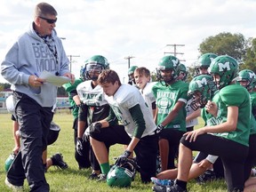
[[[212,60],[216,57],[218,55],[214,53],[204,53],[201,55],[195,64],[196,75],[200,74],[200,68],[209,68]]]

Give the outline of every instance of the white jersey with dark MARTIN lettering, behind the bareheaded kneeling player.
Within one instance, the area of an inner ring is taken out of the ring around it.
[[[84,104],[87,106],[103,106],[108,104],[103,94],[103,89],[97,85],[92,89],[92,80],[78,84],[76,87],[77,94]]]

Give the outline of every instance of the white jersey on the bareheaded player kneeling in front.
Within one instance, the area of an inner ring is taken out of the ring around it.
[[[125,132],[127,132],[131,138],[136,124],[132,119],[129,109],[137,104],[140,104],[141,112],[146,124],[146,129],[141,138],[154,134],[156,124],[153,120],[152,113],[136,87],[130,84],[122,84],[114,96],[108,97],[106,95],[105,98],[108,100],[108,104],[114,111],[117,119],[124,125]]]

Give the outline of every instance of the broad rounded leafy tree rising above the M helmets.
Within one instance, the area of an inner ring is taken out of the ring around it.
[[[218,55],[228,54],[241,62],[246,53],[247,41],[242,34],[220,33],[207,37],[200,45],[201,54],[212,52]]]

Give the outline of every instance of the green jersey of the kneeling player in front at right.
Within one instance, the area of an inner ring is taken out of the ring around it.
[[[249,92],[239,85],[230,84],[217,92],[213,97],[213,102],[218,106],[217,121],[218,124],[227,122],[228,107],[238,107],[238,119],[236,130],[233,132],[219,132],[215,135],[234,140],[244,146],[249,146],[249,134],[251,128],[251,101]]]

